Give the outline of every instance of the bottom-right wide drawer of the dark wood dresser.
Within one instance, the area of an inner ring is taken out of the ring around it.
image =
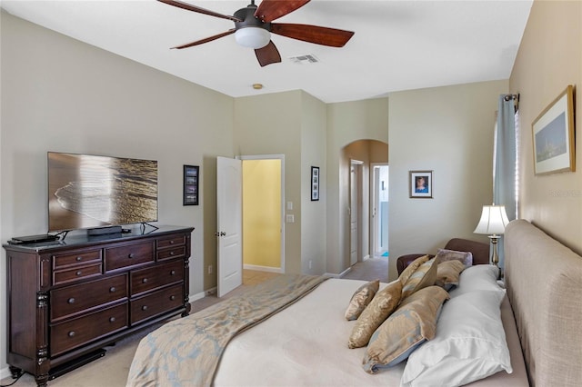
[[[184,305],[184,284],[147,294],[130,302],[131,324],[140,323],[156,314],[165,313]]]

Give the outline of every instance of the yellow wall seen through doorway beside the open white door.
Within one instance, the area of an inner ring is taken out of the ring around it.
[[[243,161],[243,263],[281,265],[281,160]]]

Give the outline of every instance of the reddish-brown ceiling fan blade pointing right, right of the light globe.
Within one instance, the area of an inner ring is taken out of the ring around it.
[[[315,43],[316,45],[329,45],[332,47],[343,47],[354,35],[352,31],[338,30],[336,28],[287,23],[271,24],[271,32],[276,35]]]

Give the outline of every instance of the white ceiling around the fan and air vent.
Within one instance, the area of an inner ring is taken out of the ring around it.
[[[250,0],[183,0],[233,15]],[[258,5],[260,0],[256,1]],[[354,31],[342,48],[272,35],[282,63],[261,67],[234,35],[183,50],[233,22],[156,0],[2,0],[12,15],[233,97],[302,89],[326,103],[507,79],[532,0],[312,0],[276,23]],[[289,57],[315,55],[316,64]],[[252,84],[264,84],[260,91]]]

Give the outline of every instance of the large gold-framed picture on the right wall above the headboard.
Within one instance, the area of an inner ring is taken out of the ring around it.
[[[537,116],[532,124],[536,174],[574,172],[574,87],[562,94]]]

